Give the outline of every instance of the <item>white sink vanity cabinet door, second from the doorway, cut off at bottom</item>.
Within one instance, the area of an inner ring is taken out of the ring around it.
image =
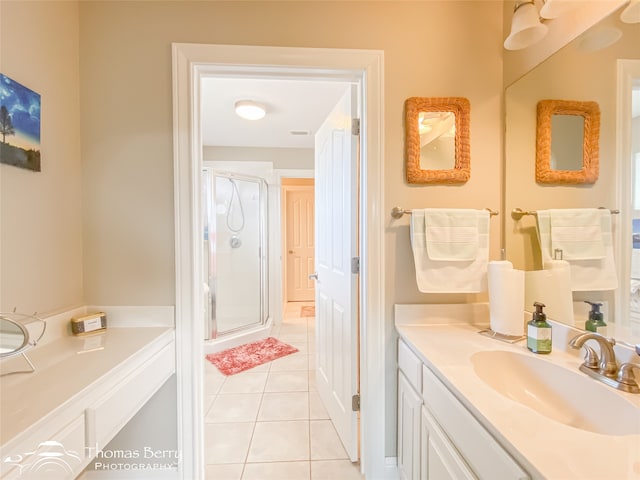
[[[420,471],[422,480],[471,480],[471,472],[429,411],[422,407]]]

